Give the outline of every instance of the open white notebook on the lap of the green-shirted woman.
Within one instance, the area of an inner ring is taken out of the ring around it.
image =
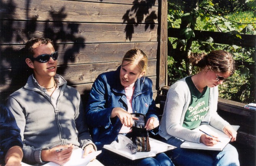
[[[240,126],[233,126],[233,129],[235,129],[235,131],[238,130],[238,128]],[[199,127],[197,127],[196,129],[194,129],[194,131],[200,132],[199,129],[201,129],[204,132],[207,132],[207,134],[215,134],[218,135],[218,138],[220,140],[220,142],[218,142],[217,144],[213,145],[213,146],[207,146],[203,143],[195,143],[195,142],[189,142],[189,141],[185,141],[181,144],[181,148],[189,148],[189,149],[202,149],[202,150],[218,150],[218,151],[222,151],[223,148],[225,148],[225,146],[230,142],[230,138],[228,137],[228,135],[226,135],[224,132],[215,129],[214,127],[208,125],[208,124],[202,124]]]

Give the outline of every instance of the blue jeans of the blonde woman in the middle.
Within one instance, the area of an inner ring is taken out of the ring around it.
[[[97,160],[105,166],[174,166],[171,159],[165,153],[159,153],[155,157],[130,160],[123,156],[117,155],[117,153],[105,150],[104,148],[102,149],[102,153],[97,156]]]

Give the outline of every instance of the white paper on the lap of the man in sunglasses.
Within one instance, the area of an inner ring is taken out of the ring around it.
[[[67,163],[63,164],[63,166],[85,166],[100,153],[101,150],[94,151],[92,153],[89,153],[85,158],[83,158],[82,156],[84,154],[84,150],[78,148],[72,151],[70,160]],[[43,166],[59,166],[59,164],[49,162],[47,164],[44,164]]]

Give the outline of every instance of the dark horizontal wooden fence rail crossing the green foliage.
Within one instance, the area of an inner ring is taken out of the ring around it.
[[[231,35],[230,32],[213,32],[213,31],[195,30],[194,33],[195,33],[195,40],[205,41],[209,37],[212,37],[213,43],[238,45],[243,47],[256,46],[256,35],[240,34],[241,35],[241,39],[240,39],[238,37],[230,37]],[[182,36],[180,35],[180,29],[169,28],[168,37],[182,38]],[[182,39],[185,39],[185,37],[183,37]]]

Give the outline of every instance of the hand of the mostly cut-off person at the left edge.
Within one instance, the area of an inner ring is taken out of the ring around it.
[[[5,155],[5,166],[20,166],[23,157],[21,147],[11,147]]]

